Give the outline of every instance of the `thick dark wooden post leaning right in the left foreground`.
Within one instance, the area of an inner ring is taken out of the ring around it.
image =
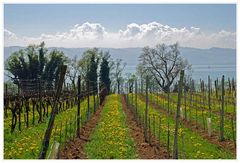
[[[57,91],[56,91],[56,94],[55,94],[53,110],[51,112],[51,116],[50,116],[50,119],[49,119],[49,122],[48,122],[48,127],[47,127],[47,130],[46,130],[45,135],[44,135],[44,139],[43,139],[43,142],[42,142],[42,149],[41,149],[41,152],[40,152],[40,155],[39,155],[39,159],[44,159],[46,157],[46,154],[47,154],[49,141],[50,141],[50,137],[51,137],[51,133],[52,133],[53,125],[54,125],[54,120],[55,120],[55,116],[56,116],[56,111],[57,111],[57,107],[58,107],[57,106],[57,101],[58,101],[59,96],[60,96],[61,91],[62,91],[62,85],[63,85],[66,69],[67,69],[66,65],[62,65],[60,67],[60,80],[59,80],[58,85],[57,85]]]

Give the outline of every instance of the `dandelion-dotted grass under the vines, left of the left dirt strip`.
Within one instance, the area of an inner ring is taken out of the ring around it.
[[[90,98],[91,101],[93,97]],[[90,102],[91,113],[93,113],[93,102]],[[70,135],[75,133],[76,125],[74,124],[75,116],[77,113],[77,106],[70,108],[64,112],[57,114],[54,122],[54,128],[50,139],[51,147],[53,140],[60,142],[60,126],[62,123],[61,143],[65,141],[65,122],[68,121],[67,127],[67,139]],[[70,129],[70,118],[72,121],[72,128]],[[81,119],[87,120],[87,99],[81,102]],[[4,120],[4,159],[37,159],[42,146],[42,140],[44,133],[48,125],[48,119],[45,119],[43,123],[36,126],[30,126],[29,128],[23,128],[22,132],[16,131],[11,134],[9,127],[10,122],[8,119]],[[75,128],[75,129],[74,129]],[[49,150],[48,150],[49,152]]]

